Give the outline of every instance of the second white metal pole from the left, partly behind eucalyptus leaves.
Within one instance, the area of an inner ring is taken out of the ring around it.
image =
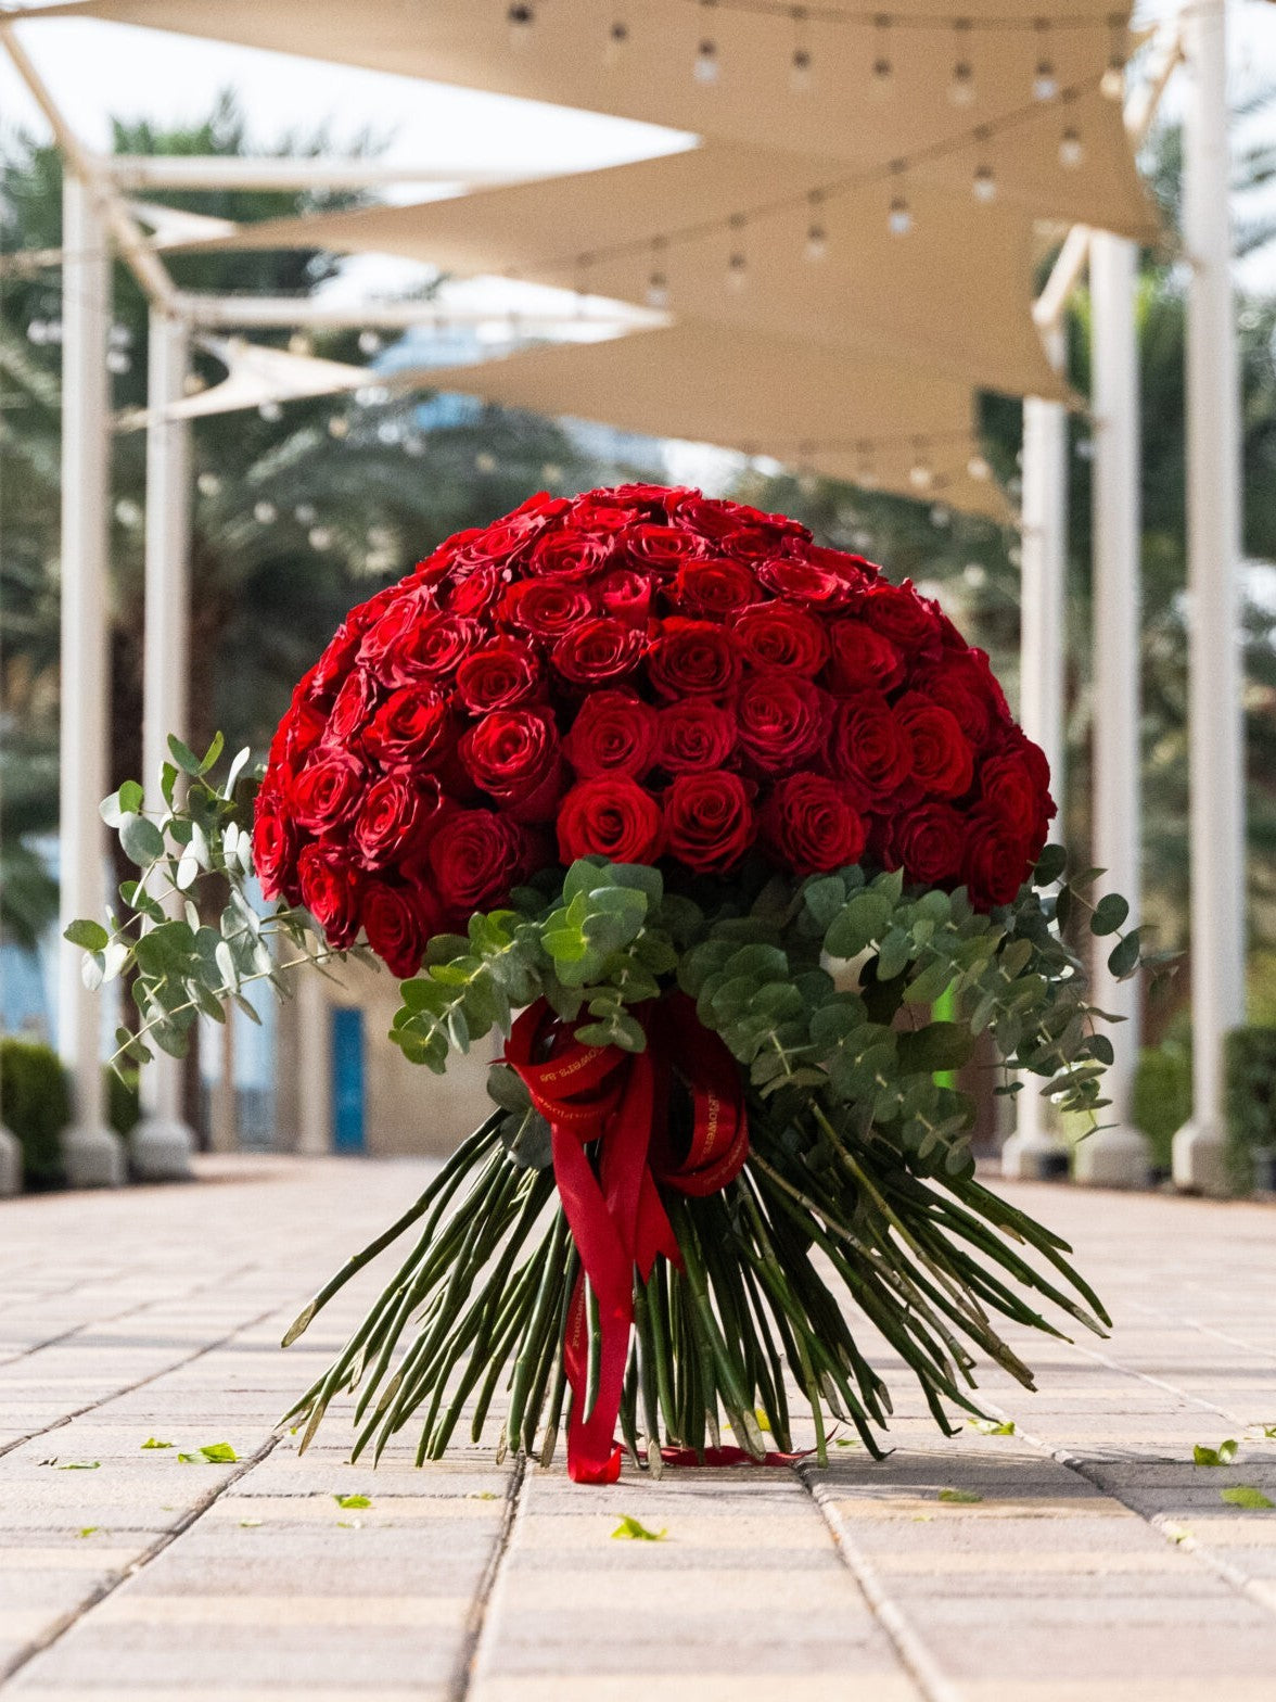
[[[185,739],[191,625],[191,427],[165,408],[180,402],[191,357],[184,320],[151,308],[146,366],[146,609],[143,625],[143,786],[151,808],[162,807],[160,768],[168,761],[168,734]],[[180,914],[177,899],[170,900]],[[157,1054],[141,1072],[143,1118],[131,1156],[148,1181],[191,1174],[194,1134],[182,1117],[184,1065]]]

